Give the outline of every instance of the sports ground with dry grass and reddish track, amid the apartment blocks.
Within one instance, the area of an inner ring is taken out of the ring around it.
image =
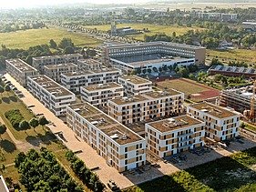
[[[185,94],[185,98],[191,101],[200,102],[215,96],[219,96],[220,92],[217,89],[199,84],[195,81],[179,78],[160,81],[157,83],[160,88],[172,88]]]

